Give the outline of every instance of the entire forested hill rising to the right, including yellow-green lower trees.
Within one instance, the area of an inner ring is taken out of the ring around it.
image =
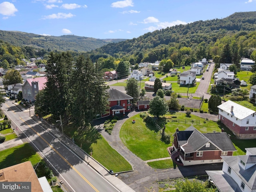
[[[107,44],[91,51],[90,57],[96,60],[125,56],[132,64],[170,58],[175,65],[180,65],[202,58],[222,57],[225,45],[228,45],[227,51],[232,55],[230,62],[236,63],[240,57],[250,58],[255,50],[255,30],[256,12],[238,12],[223,19],[176,25],[131,40]]]

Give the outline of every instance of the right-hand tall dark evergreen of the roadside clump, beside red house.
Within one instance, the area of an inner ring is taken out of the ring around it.
[[[109,87],[99,69],[100,64],[93,64],[83,55],[78,56],[74,66],[70,85],[73,89],[70,110],[72,119],[82,128],[88,128],[97,114],[106,114],[108,109],[106,89]]]

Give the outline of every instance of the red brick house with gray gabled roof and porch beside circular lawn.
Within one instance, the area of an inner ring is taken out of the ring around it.
[[[174,133],[172,160],[178,165],[223,162],[236,151],[226,132],[201,133],[193,126]]]

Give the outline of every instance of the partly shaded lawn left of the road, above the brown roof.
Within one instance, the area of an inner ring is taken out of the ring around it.
[[[31,161],[36,165],[41,157],[29,143],[0,151],[0,169],[13,166],[22,162]]]

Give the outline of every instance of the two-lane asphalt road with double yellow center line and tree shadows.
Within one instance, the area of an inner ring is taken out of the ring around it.
[[[52,166],[70,192],[120,192],[90,164],[78,157],[47,129],[29,116],[29,109],[21,111],[6,100],[2,110],[12,120],[12,127],[24,142],[30,142],[37,152]],[[30,113],[34,114],[33,108]]]

